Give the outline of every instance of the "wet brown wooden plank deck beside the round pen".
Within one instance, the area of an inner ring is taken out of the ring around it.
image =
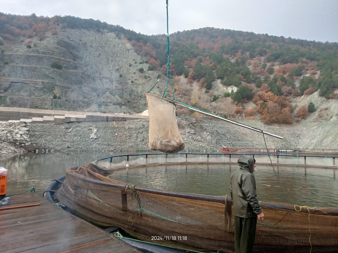
[[[0,252],[141,252],[38,194],[24,193],[10,198],[9,205],[0,207]],[[39,203],[38,206],[1,209]]]

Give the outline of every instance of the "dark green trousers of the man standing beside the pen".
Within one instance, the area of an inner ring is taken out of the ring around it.
[[[242,218],[235,216],[236,253],[251,253],[254,248],[257,217]]]

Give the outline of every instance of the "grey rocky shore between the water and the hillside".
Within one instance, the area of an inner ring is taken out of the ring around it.
[[[313,122],[292,125],[266,125],[259,119],[238,118],[279,136],[265,136],[268,148],[334,148],[337,146],[335,121],[323,127]],[[183,151],[220,151],[232,148],[264,148],[263,135],[219,119],[189,115],[177,117],[177,125],[185,141]],[[318,131],[322,129],[323,132]],[[0,123],[0,155],[15,152],[76,151],[139,151],[147,150],[149,121],[147,119],[73,122],[58,125]],[[331,133],[324,136],[323,133]]]

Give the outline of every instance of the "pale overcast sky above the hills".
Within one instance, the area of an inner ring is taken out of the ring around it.
[[[165,0],[0,0],[0,11],[99,19],[149,35],[167,32]],[[338,0],[169,0],[169,33],[207,26],[338,42]]]

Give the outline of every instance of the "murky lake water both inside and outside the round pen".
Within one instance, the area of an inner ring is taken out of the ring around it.
[[[118,154],[24,153],[0,157],[0,166],[8,169],[7,194],[27,191],[31,187],[42,193],[52,179],[65,173],[66,168]],[[122,158],[119,159],[122,161]],[[227,195],[230,176],[237,168],[236,164],[172,164],[126,168],[116,171],[112,177],[147,187]],[[313,207],[338,206],[336,169],[282,165],[275,165],[273,169],[269,165],[258,165],[255,177],[260,200]]]

